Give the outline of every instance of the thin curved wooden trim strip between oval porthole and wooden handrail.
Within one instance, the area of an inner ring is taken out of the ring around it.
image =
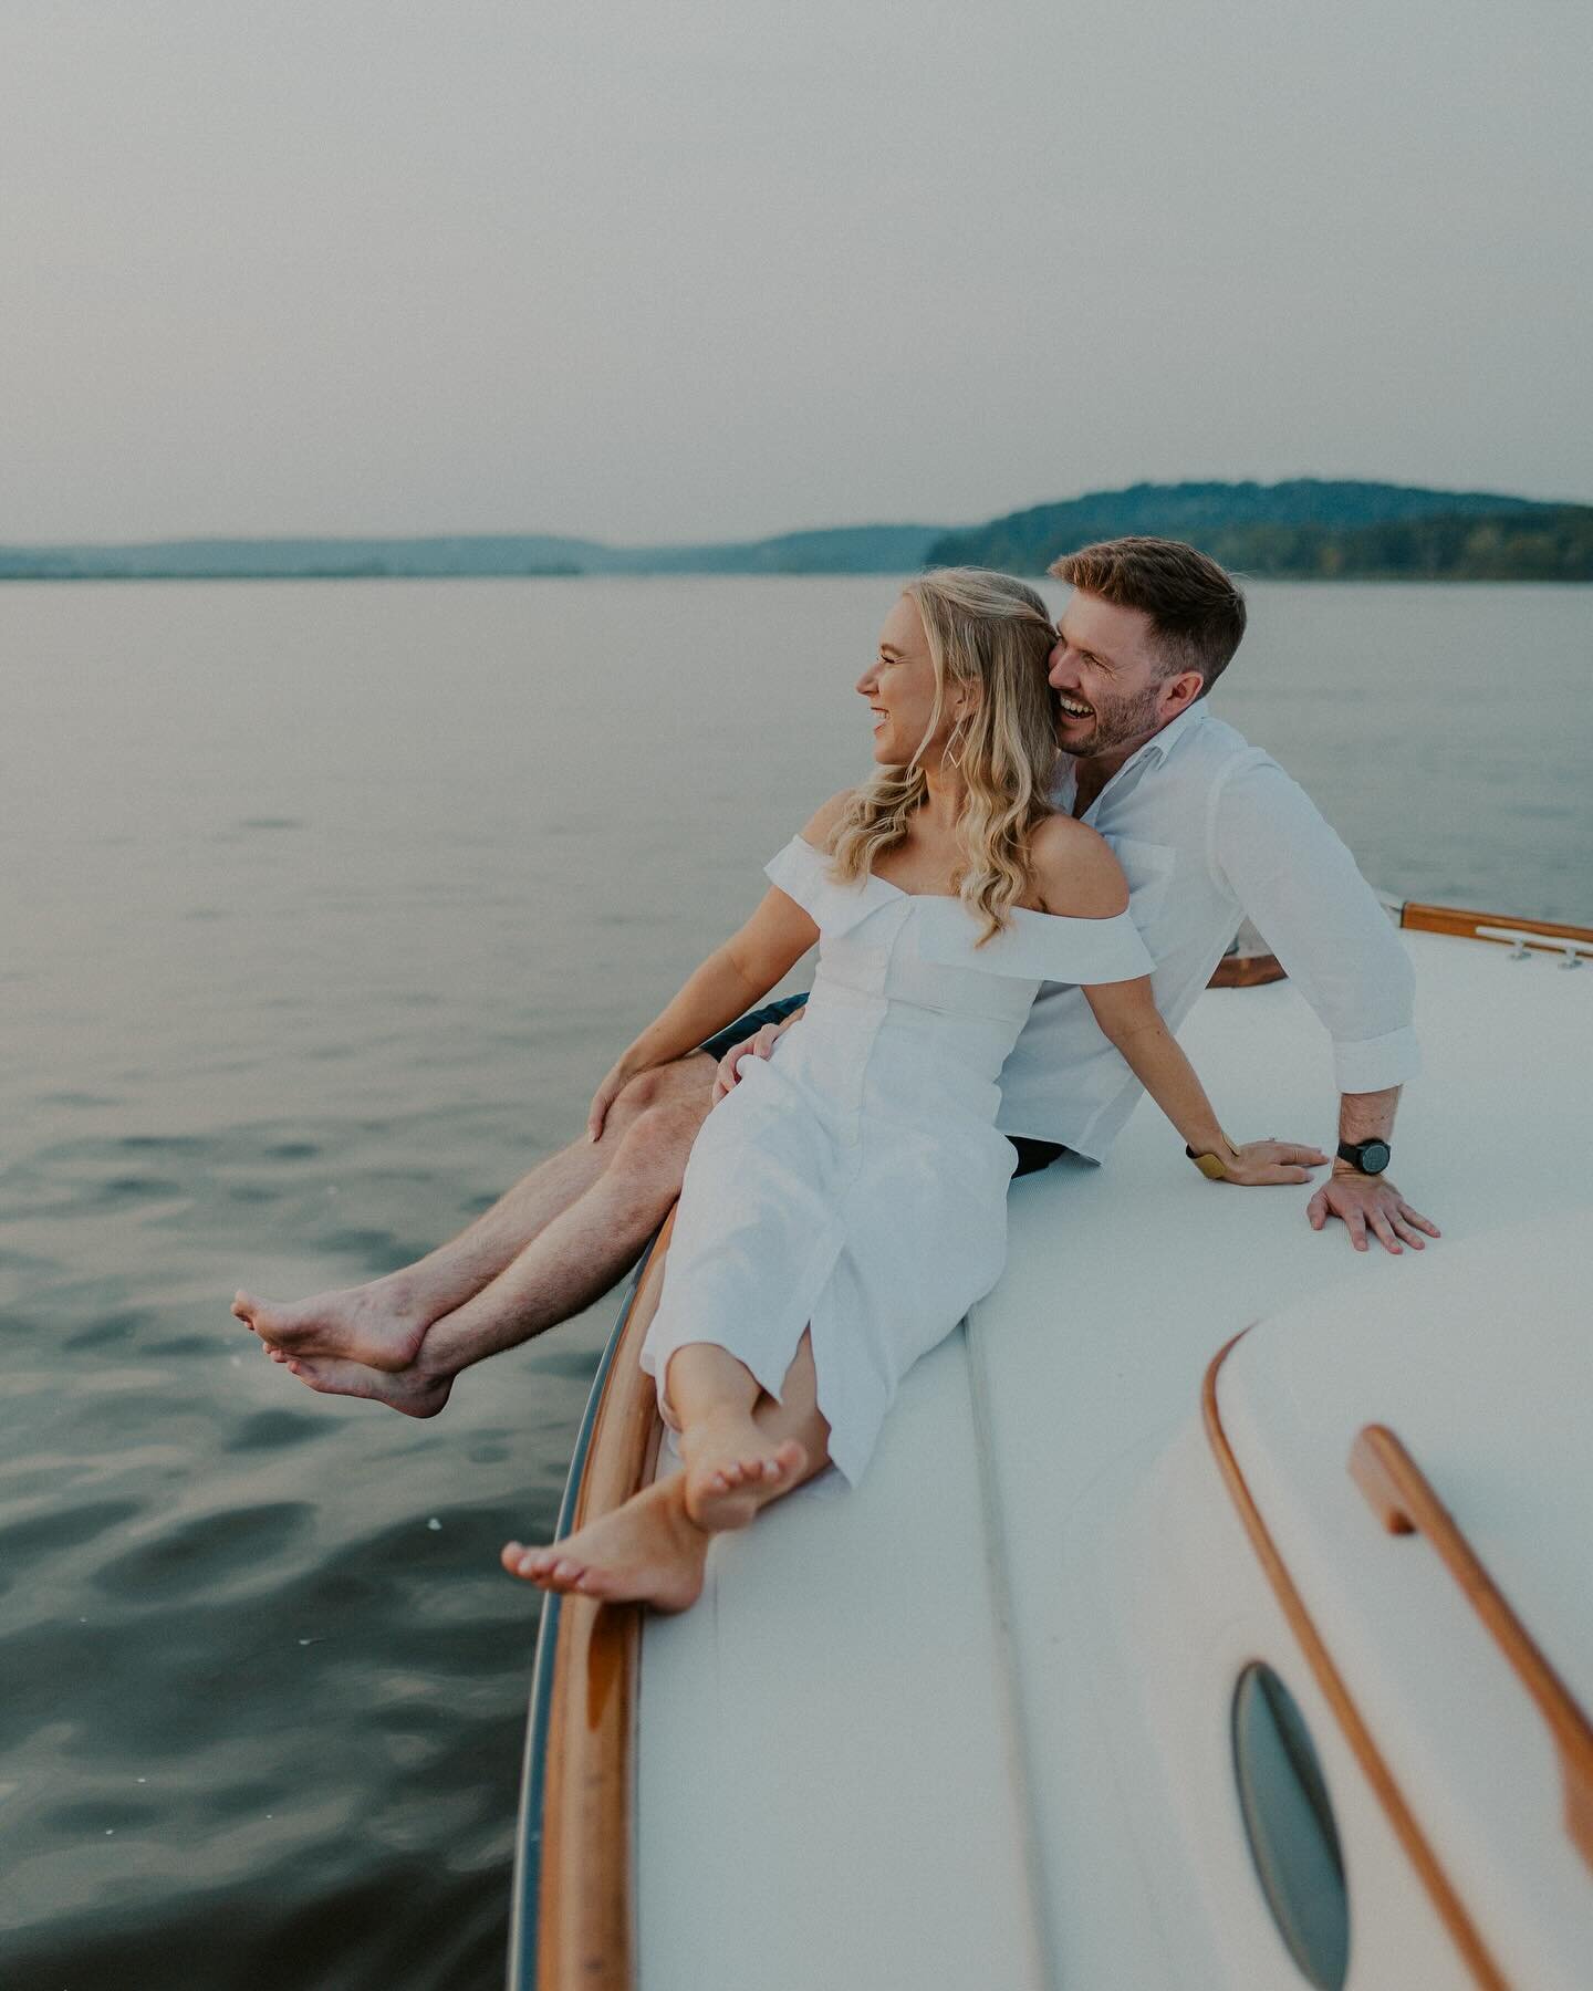
[[[1245,1332],[1249,1332],[1249,1328]],[[1406,1804],[1400,1786],[1394,1782],[1394,1776],[1378,1750],[1378,1744],[1372,1740],[1372,1732],[1350,1698],[1350,1690],[1346,1688],[1322,1635],[1316,1631],[1316,1625],[1304,1607],[1304,1599],[1288,1575],[1288,1565],[1278,1553],[1278,1547],[1260,1517],[1260,1509],[1245,1483],[1245,1473],[1235,1457],[1227,1432],[1223,1430],[1223,1416],[1217,1404],[1219,1370],[1241,1340],[1243,1334],[1235,1334],[1231,1342],[1217,1350],[1201,1386],[1201,1410],[1205,1416],[1207,1438],[1211,1439],[1211,1449],[1217,1453],[1217,1465],[1223,1473],[1223,1481],[1227,1483],[1229,1495],[1239,1509],[1239,1519],[1245,1523],[1245,1533],[1251,1537],[1256,1561],[1260,1563],[1266,1581],[1272,1585],[1272,1595],[1278,1599],[1282,1615],[1288,1619],[1288,1629],[1294,1633],[1294,1639],[1306,1657],[1306,1664],[1316,1676],[1322,1698],[1332,1708],[1334,1720],[1344,1732],[1344,1740],[1350,1744],[1366,1782],[1372,1786],[1378,1804],[1384,1808],[1400,1846],[1404,1846],[1406,1858],[1416,1868],[1416,1876],[1426,1887],[1432,1905],[1438,1909],[1444,1927],[1450,1931],[1450,1939],[1460,1951],[1462,1961],[1481,1991],[1509,1991],[1509,1981],[1487,1953],[1487,1945],[1478,1933],[1476,1923],[1466,1913],[1466,1903],[1460,1899],[1444,1868],[1438,1864],[1426,1834],[1416,1822],[1416,1814]]]

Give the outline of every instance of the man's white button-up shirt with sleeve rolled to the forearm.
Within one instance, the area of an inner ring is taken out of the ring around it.
[[[1071,814],[1075,792],[1065,761],[1053,806]],[[1338,1091],[1416,1077],[1414,976],[1388,916],[1298,782],[1205,703],[1131,755],[1083,820],[1127,874],[1169,1029],[1249,918],[1326,1023]],[[1139,1095],[1081,990],[1047,978],[1002,1071],[1002,1133],[1101,1161]]]

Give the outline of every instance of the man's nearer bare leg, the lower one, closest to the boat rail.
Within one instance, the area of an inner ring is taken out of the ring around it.
[[[707,1117],[713,1069],[713,1059],[697,1055],[657,1073],[665,1083],[649,1089],[645,1109],[629,1117],[623,1133],[605,1127],[603,1139],[587,1145],[595,1153],[613,1141],[601,1175],[544,1222],[496,1278],[430,1320],[408,1362],[378,1368],[350,1356],[283,1348],[289,1370],[311,1390],[368,1396],[406,1416],[430,1418],[448,1402],[460,1370],[591,1306],[635,1264],[679,1195],[691,1143]]]

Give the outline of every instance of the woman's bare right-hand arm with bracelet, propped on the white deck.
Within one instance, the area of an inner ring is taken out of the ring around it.
[[[1107,840],[1083,822],[1069,816],[1043,822],[1031,842],[1031,862],[1047,912],[1075,920],[1105,920],[1127,912],[1129,884],[1123,866]],[[1083,994],[1095,1021],[1185,1145],[1197,1155],[1217,1155],[1225,1181],[1247,1187],[1308,1183],[1308,1171],[1328,1159],[1320,1149],[1294,1141],[1249,1141],[1243,1147],[1229,1141],[1195,1067],[1161,1019],[1149,976],[1097,982]]]

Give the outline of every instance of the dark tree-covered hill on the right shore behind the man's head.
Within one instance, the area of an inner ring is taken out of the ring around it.
[[[1410,484],[1133,484],[948,532],[934,565],[1043,573],[1091,540],[1187,540],[1245,573],[1593,579],[1593,508]]]

